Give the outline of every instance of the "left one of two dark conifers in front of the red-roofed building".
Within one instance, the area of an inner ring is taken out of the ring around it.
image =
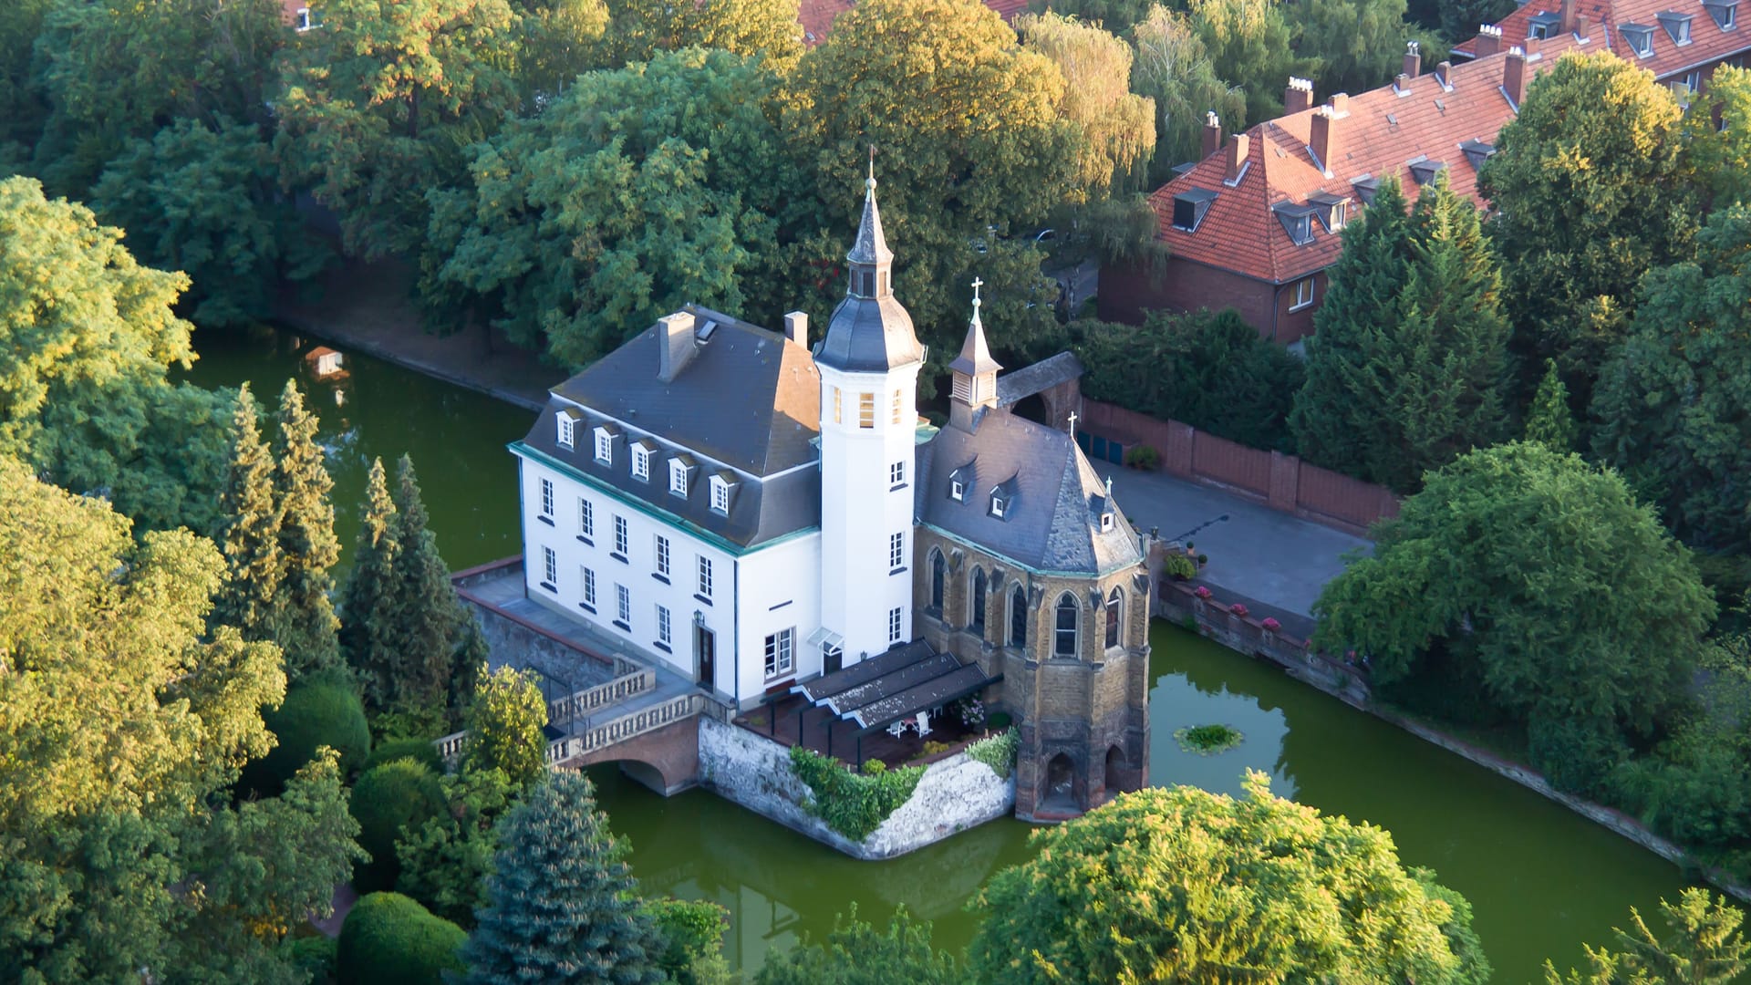
[[[1343,254],[1327,272],[1326,301],[1306,342],[1306,382],[1289,412],[1301,457],[1361,475],[1368,435],[1387,419],[1387,389],[1375,351],[1396,321],[1410,277],[1410,217],[1397,181],[1382,181],[1361,219],[1343,230]]]

